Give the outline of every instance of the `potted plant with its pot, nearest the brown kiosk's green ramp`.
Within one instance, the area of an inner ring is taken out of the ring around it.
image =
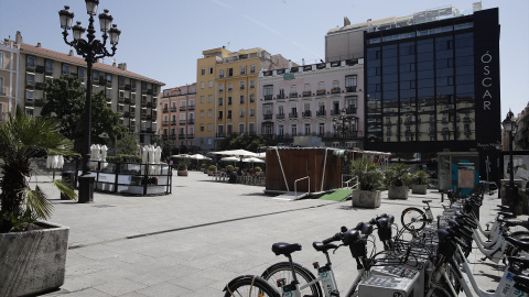
[[[359,189],[353,190],[353,207],[380,207],[380,188],[384,173],[380,166],[367,158],[350,162],[350,174],[358,177]]]

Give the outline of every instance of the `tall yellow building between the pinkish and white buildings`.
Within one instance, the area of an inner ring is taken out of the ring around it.
[[[213,151],[226,135],[257,133],[257,80],[261,69],[287,67],[281,55],[262,48],[203,52],[196,73],[196,139],[201,151]]]

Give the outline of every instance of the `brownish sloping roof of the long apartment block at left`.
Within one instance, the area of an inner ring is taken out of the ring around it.
[[[48,58],[53,58],[53,59],[60,59],[60,61],[64,61],[64,62],[67,62],[67,63],[71,63],[71,64],[76,64],[76,65],[86,67],[86,62],[82,57],[71,56],[71,55],[67,55],[67,54],[50,51],[50,50],[46,50],[46,48],[43,48],[43,47],[37,47],[37,46],[34,46],[34,45],[23,43],[20,47],[20,51],[21,51],[21,53],[30,53],[30,54],[34,54],[34,55],[39,55],[39,56],[43,56],[43,57],[48,57]],[[162,81],[158,81],[155,79],[152,79],[152,78],[139,75],[139,74],[134,74],[132,72],[122,70],[122,69],[118,68],[117,66],[107,65],[107,64],[104,64],[104,63],[94,63],[93,67],[94,67],[94,69],[100,70],[100,72],[116,74],[116,75],[119,75],[119,76],[125,76],[125,77],[130,77],[130,78],[136,78],[136,79],[142,80],[142,81],[148,81],[148,82],[156,84],[156,85],[160,85],[160,86],[165,86],[165,84],[162,82]]]

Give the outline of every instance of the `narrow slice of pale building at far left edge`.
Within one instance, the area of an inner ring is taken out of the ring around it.
[[[0,123],[13,113],[18,100],[20,44],[4,40],[0,42]]]

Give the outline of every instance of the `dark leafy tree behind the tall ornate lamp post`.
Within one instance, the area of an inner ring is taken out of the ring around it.
[[[73,75],[62,75],[58,78],[46,79],[41,114],[61,120],[61,133],[75,141],[75,147],[80,152],[83,144],[83,123],[85,122],[86,89],[79,79]],[[99,135],[104,132],[114,140],[128,131],[118,124],[120,114],[108,106],[104,91],[91,96],[91,135],[93,143],[106,144]]]

